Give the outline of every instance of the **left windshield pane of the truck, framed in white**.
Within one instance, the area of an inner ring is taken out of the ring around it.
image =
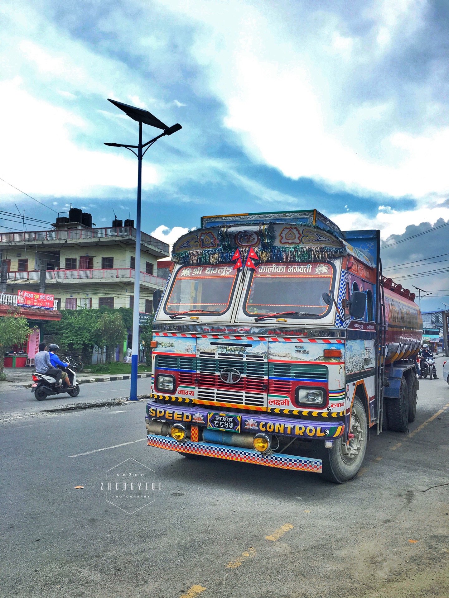
[[[233,294],[237,270],[233,264],[183,266],[165,303],[165,313],[225,313]]]

